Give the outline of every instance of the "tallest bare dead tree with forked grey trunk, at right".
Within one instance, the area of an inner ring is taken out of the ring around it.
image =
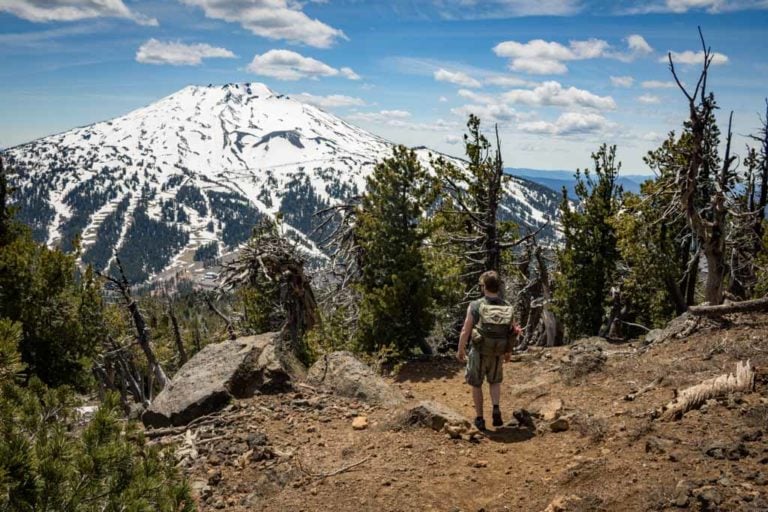
[[[696,86],[692,92],[686,89],[675,71],[672,54],[668,54],[669,68],[680,90],[688,101],[689,129],[691,136],[690,149],[687,151],[686,163],[678,172],[676,185],[677,202],[684,213],[688,224],[701,244],[707,262],[707,281],[705,299],[710,304],[720,304],[723,300],[723,283],[728,272],[726,263],[726,238],[728,220],[728,197],[731,190],[733,171],[731,166],[736,157],[731,156],[731,138],[733,112],[728,122],[725,157],[721,168],[717,171],[716,187],[712,193],[710,204],[707,205],[709,215],[705,217],[702,208],[697,204],[700,176],[708,170],[706,135],[708,123],[716,109],[714,96],[707,92],[709,66],[714,54],[705,41],[699,29],[701,44],[704,50],[704,63]]]

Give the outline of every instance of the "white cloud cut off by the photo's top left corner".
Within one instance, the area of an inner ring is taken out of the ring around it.
[[[126,18],[140,25],[157,26],[157,20],[131,11],[123,0],[2,0],[0,12],[34,21],[77,21],[88,18]]]

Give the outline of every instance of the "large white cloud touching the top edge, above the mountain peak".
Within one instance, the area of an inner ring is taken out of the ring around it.
[[[94,0],[98,1],[98,0]],[[181,0],[200,7],[208,18],[239,23],[257,36],[328,48],[347,39],[339,29],[312,19],[295,0]]]

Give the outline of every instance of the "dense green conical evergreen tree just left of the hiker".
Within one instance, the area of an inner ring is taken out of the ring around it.
[[[390,347],[402,355],[425,347],[434,323],[422,242],[428,175],[402,146],[367,180],[355,225],[362,254],[357,339],[372,353]]]

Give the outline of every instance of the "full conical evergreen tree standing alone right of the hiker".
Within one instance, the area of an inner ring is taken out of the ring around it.
[[[578,203],[571,206],[564,188],[560,205],[565,246],[557,253],[555,299],[571,337],[597,334],[618,260],[611,224],[622,194],[616,147],[603,144],[592,160],[594,178],[589,170],[576,171]]]

